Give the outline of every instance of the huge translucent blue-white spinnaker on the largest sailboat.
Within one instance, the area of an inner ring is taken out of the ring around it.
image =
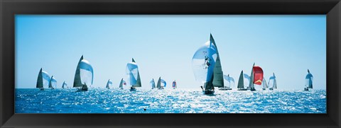
[[[192,68],[197,81],[202,83],[211,81],[216,59],[217,50],[210,41],[195,52],[192,59]]]

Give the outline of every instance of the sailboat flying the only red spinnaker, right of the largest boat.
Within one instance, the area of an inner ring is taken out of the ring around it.
[[[261,83],[263,82],[263,69],[261,69],[260,66],[253,65],[250,77],[251,77],[249,83],[250,91],[256,91],[256,89],[254,88],[254,84],[260,86]]]

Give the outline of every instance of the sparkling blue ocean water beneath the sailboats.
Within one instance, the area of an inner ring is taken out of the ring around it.
[[[16,89],[16,113],[326,113],[326,91]],[[146,109],[146,110],[144,110]]]

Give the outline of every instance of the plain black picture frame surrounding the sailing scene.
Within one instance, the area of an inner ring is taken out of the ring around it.
[[[1,0],[0,127],[341,127],[340,0]],[[16,14],[325,14],[327,114],[15,114]]]

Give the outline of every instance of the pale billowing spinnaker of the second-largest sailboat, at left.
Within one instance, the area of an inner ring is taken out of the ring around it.
[[[94,71],[92,69],[92,66],[85,59],[82,59],[82,61],[80,61],[79,64],[80,64],[80,81],[82,81],[82,84],[87,84],[87,86],[91,86],[94,80]]]

